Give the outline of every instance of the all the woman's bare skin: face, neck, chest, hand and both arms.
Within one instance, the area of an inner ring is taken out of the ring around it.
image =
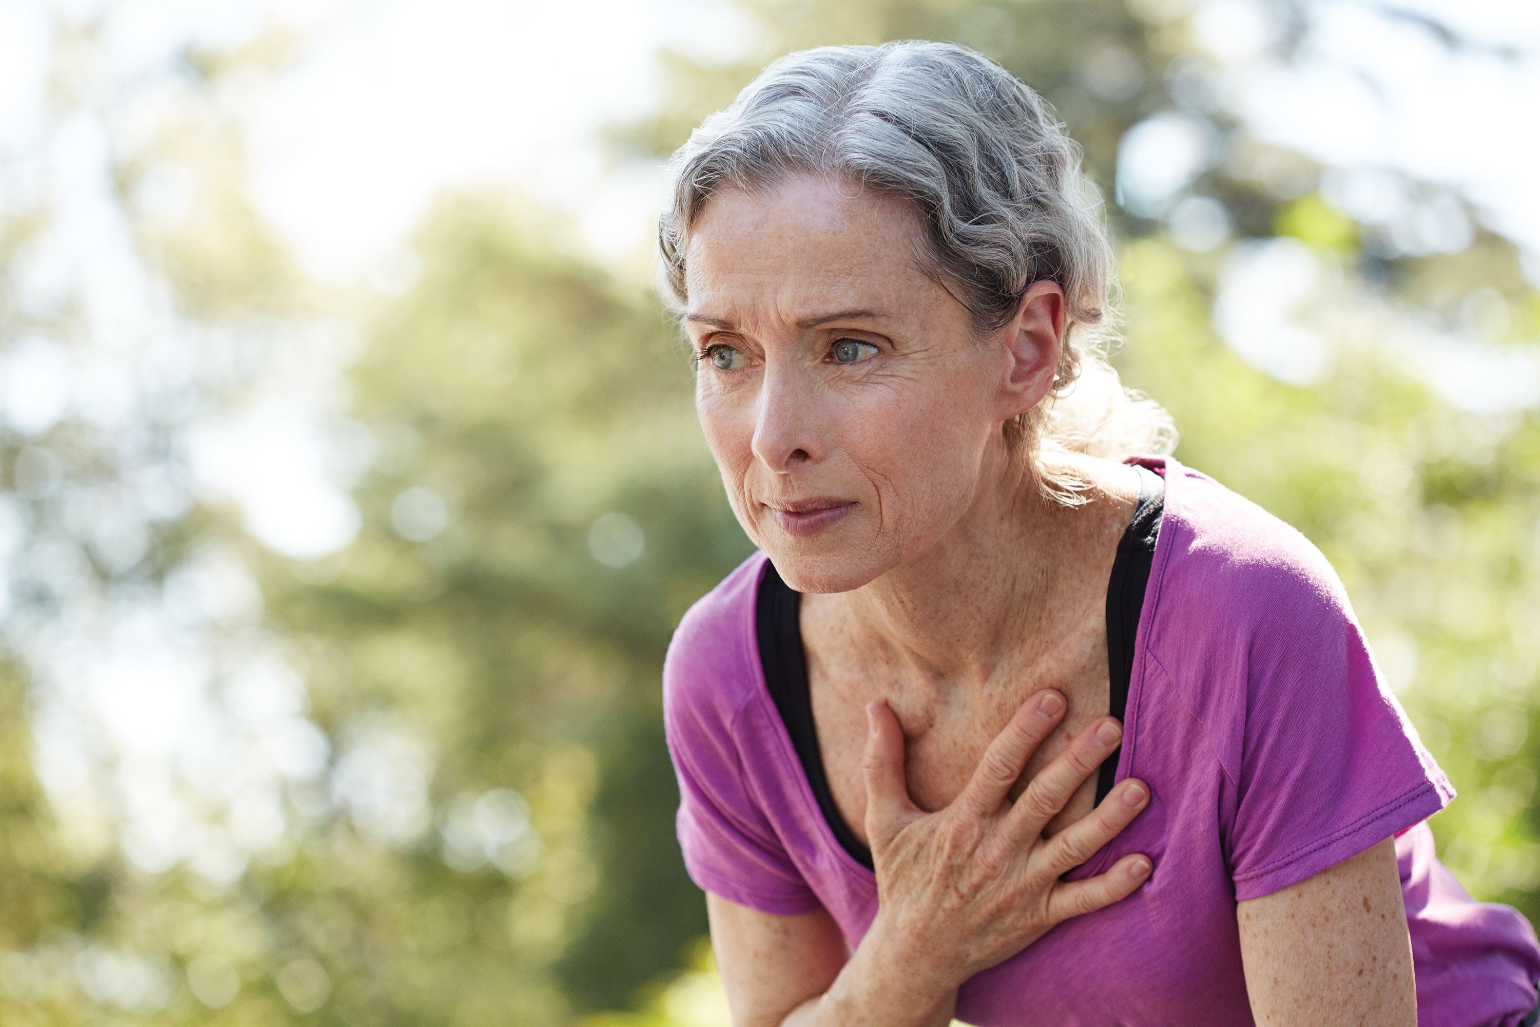
[[[1075,915],[1046,912],[1056,873],[1021,867],[1070,839],[1100,847],[1135,816],[1109,811],[1116,793],[1092,811],[1092,753],[1109,750],[1089,739],[1109,719],[1104,599],[1137,474],[1063,457],[1090,482],[1087,502],[1043,500],[1001,425],[1049,393],[1063,291],[1033,283],[981,337],[919,269],[916,240],[901,202],[793,177],[716,194],[685,251],[701,425],[744,530],[804,593],[818,745],[881,895],[855,952],[824,912],[770,916],[708,895],[745,1027],[947,1024],[958,984]],[[815,497],[844,516],[807,534],[776,513]],[[1047,690],[1064,708],[1003,764],[996,813],[958,813]],[[869,722],[873,701],[884,713]],[[1001,842],[1049,793],[1056,813]],[[1087,882],[1076,912],[1135,890],[1135,862]],[[1238,918],[1258,1024],[1415,1024],[1389,841]]]

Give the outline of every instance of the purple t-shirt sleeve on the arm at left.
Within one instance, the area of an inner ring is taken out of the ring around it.
[[[741,702],[733,699],[752,665],[724,661],[721,644],[702,644],[693,627],[688,619],[681,625],[664,662],[664,730],[679,779],[685,871],[702,890],[762,913],[819,908],[745,779],[733,730]]]

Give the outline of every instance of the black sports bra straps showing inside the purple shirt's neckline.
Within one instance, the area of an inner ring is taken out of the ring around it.
[[[1129,705],[1129,677],[1133,673],[1133,642],[1140,627],[1140,611],[1144,607],[1144,588],[1150,577],[1155,556],[1155,537],[1160,533],[1161,513],[1166,499],[1166,480],[1149,468],[1140,470],[1140,500],[1133,517],[1118,539],[1118,553],[1112,560],[1107,579],[1107,671],[1110,681],[1110,713],[1123,719]],[[759,580],[755,624],[759,634],[759,662],[764,665],[765,687],[781,711],[787,734],[796,748],[807,782],[813,787],[818,808],[829,821],[835,839],[861,865],[872,868],[872,850],[861,844],[845,818],[835,805],[824,776],[824,759],[818,751],[818,733],[813,728],[813,704],[807,691],[807,659],[802,651],[802,628],[798,621],[801,593],[792,591],[775,565],[765,564]],[[1096,778],[1096,802],[1100,804],[1118,774],[1115,750],[1101,764]]]

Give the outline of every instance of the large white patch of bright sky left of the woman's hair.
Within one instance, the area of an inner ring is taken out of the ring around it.
[[[388,259],[445,185],[517,182],[574,212],[599,251],[638,242],[656,179],[605,168],[593,131],[645,111],[658,46],[710,18],[676,0],[345,14],[253,119],[257,200],[313,271]]]

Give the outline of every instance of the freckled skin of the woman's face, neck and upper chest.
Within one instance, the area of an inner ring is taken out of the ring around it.
[[[867,701],[898,713],[910,788],[927,810],[956,796],[1032,691],[1060,688],[1069,716],[1015,793],[1106,714],[1106,582],[1138,480],[1084,460],[1098,488],[1087,507],[1064,510],[1009,477],[999,423],[1046,393],[1056,340],[1030,354],[1035,394],[1001,390],[1006,348],[972,339],[967,311],[915,266],[907,209],[849,197],[808,180],[715,197],[691,237],[687,283],[691,314],[733,326],[691,325],[696,346],[733,348],[748,365],[718,373],[702,362],[701,423],[739,520],[781,576],[810,593],[801,624],[819,748],[835,802],[864,842]],[[733,245],[742,239],[753,245]],[[850,309],[875,316],[796,328]],[[835,339],[879,353],[832,365]],[[813,539],[778,530],[764,508],[830,493],[856,511]],[[1009,614],[975,616],[990,607]],[[1047,835],[1089,813],[1093,798],[1089,781]]]

